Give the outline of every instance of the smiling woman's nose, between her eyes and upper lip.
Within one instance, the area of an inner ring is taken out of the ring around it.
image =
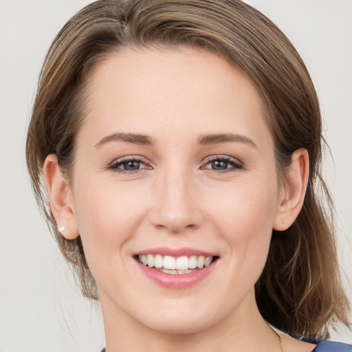
[[[199,188],[186,170],[168,170],[155,180],[155,202],[149,212],[153,226],[177,234],[200,227],[203,215]]]

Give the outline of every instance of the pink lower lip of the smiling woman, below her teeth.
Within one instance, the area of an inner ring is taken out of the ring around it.
[[[189,274],[166,274],[164,272],[159,272],[159,270],[155,270],[151,267],[146,267],[137,260],[136,263],[138,267],[140,267],[140,270],[142,270],[143,274],[148,276],[148,278],[150,278],[158,285],[170,289],[183,289],[193,286],[206,278],[214,269],[217,261],[213,261],[207,267],[203,267],[203,269],[196,270],[195,272],[191,272]]]

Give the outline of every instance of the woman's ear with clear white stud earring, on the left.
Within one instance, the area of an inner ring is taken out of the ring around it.
[[[46,157],[44,179],[50,197],[50,207],[55,217],[58,230],[65,239],[76,239],[79,236],[74,211],[74,198],[67,179],[61,174],[58,167],[58,158],[55,154]]]

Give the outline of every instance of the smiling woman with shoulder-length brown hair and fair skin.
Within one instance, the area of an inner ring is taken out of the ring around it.
[[[27,159],[106,351],[351,351],[323,340],[349,302],[321,148],[304,63],[249,5],[78,12],[45,60]]]

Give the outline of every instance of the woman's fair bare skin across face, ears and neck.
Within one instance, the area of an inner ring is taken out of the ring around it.
[[[94,70],[87,110],[70,184],[55,155],[44,171],[63,236],[82,238],[107,351],[281,351],[256,307],[254,284],[272,229],[285,230],[300,211],[308,155],[296,151],[279,181],[253,83],[204,50],[126,49]],[[111,133],[149,135],[155,144],[107,139]],[[247,140],[197,143],[214,133]],[[144,160],[136,170],[111,168],[131,156]],[[209,157],[224,156],[236,166],[222,164],[219,173]],[[219,259],[196,285],[170,289],[133,259],[157,247],[196,248]],[[314,348],[281,336],[285,352]]]

